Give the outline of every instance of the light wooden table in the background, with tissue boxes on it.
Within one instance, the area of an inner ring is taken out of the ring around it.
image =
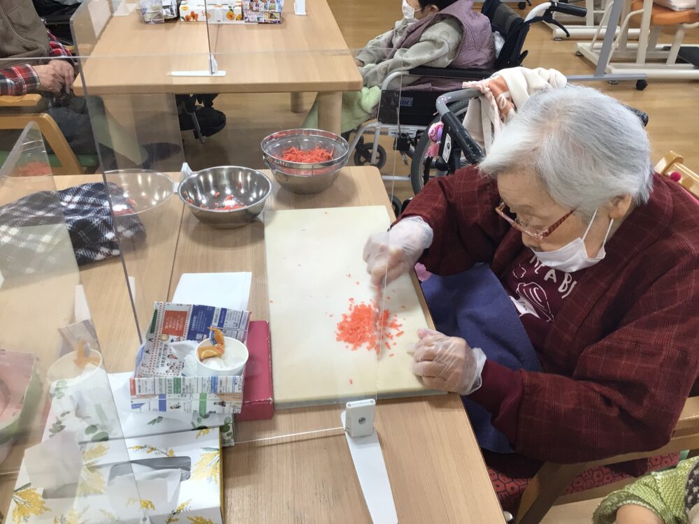
[[[75,24],[91,95],[319,92],[319,126],[333,131],[340,129],[342,92],[362,87],[326,0],[307,0],[307,16],[294,15],[287,1],[281,25],[209,24],[208,32],[204,22],[143,24],[134,11],[111,17],[96,42],[82,43],[79,35],[92,24],[87,7]],[[208,70],[209,52],[225,76],[171,75]],[[80,78],[73,87],[84,93]]]

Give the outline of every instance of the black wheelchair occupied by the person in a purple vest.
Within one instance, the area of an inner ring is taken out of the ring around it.
[[[394,80],[403,75],[416,75],[422,78],[447,78],[468,82],[470,80],[483,80],[489,78],[500,69],[521,66],[528,51],[522,50],[526,35],[531,24],[545,20],[560,26],[560,22],[553,19],[555,11],[571,15],[583,16],[584,8],[570,6],[568,3],[547,3],[545,10],[534,8],[526,18],[516,13],[510,6],[500,0],[486,0],[481,8],[481,13],[486,15],[491,22],[494,33],[503,38],[503,46],[497,54],[493,68],[434,68],[420,66],[410,71],[396,71],[389,75],[381,87],[381,98],[377,110],[377,119],[366,122],[354,131],[344,133],[343,136],[350,143],[350,151],[354,150],[354,164],[356,166],[371,165],[381,169],[386,163],[387,153],[379,144],[381,135],[394,138],[393,148],[401,154],[403,162],[408,165],[412,160],[410,176],[382,175],[383,180],[410,181],[413,191],[417,194],[424,183],[431,176],[430,170],[440,170],[445,167],[439,162],[428,167],[425,172],[426,153],[429,139],[426,129],[431,124],[438,122],[435,117],[435,103],[444,92],[425,92],[410,90],[410,86],[401,89],[389,89]],[[563,28],[565,30],[565,28]],[[454,115],[466,112],[468,101],[457,101],[449,108]],[[354,140],[349,137],[354,133]],[[365,140],[365,135],[371,136],[370,141]],[[431,164],[431,162],[429,162]],[[399,203],[394,202],[394,208],[400,210]]]

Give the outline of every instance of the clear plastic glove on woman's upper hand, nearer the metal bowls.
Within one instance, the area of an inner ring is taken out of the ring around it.
[[[422,252],[432,245],[432,238],[432,228],[419,217],[408,217],[391,231],[371,235],[363,255],[371,283],[389,284],[412,270]]]

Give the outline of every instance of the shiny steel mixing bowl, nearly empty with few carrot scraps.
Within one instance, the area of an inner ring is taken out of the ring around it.
[[[218,166],[189,175],[180,183],[178,194],[189,211],[204,224],[214,228],[239,228],[250,224],[262,212],[271,189],[271,180],[257,170]],[[226,209],[226,204],[231,202],[243,207]]]

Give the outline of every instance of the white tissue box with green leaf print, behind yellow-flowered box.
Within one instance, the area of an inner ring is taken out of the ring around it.
[[[101,442],[122,437],[220,428],[222,445],[235,444],[232,415],[201,415],[195,412],[183,414],[180,418],[166,418],[158,413],[132,412],[129,395],[131,373],[98,371],[90,378],[92,384],[83,385],[80,390],[71,387],[56,388],[55,384],[52,386],[52,402],[43,440],[64,431],[75,432],[78,442]],[[107,383],[109,389],[104,391]],[[100,396],[104,398],[100,400]]]

